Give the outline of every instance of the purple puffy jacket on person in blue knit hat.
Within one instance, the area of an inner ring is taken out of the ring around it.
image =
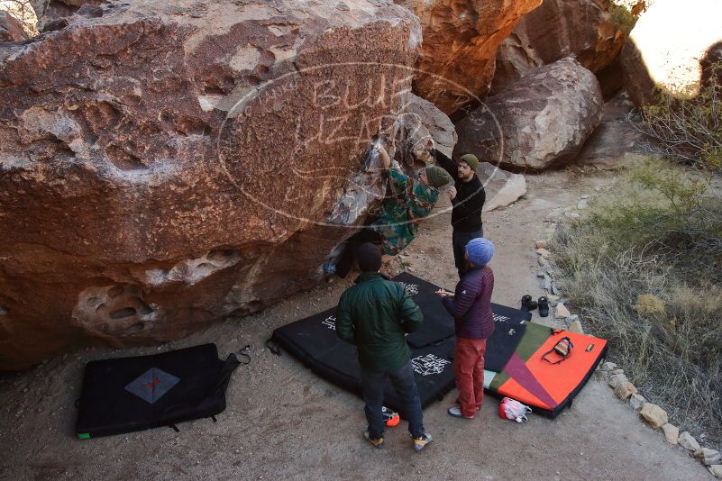
[[[443,306],[453,316],[457,338],[487,339],[494,332],[493,290],[494,271],[489,266],[472,268],[456,285],[453,297],[442,299]]]

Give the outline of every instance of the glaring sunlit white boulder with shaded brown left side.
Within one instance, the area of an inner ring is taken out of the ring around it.
[[[655,0],[641,15],[622,50],[626,89],[637,105],[655,101],[654,87],[676,96],[696,95],[700,61],[722,42],[722,3]],[[660,32],[664,32],[660,34]]]

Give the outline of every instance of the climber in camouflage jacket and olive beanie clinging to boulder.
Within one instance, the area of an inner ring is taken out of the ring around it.
[[[372,242],[388,256],[395,256],[416,238],[418,222],[434,209],[439,200],[440,189],[453,182],[452,176],[443,168],[431,166],[418,171],[417,178],[408,177],[398,168],[393,168],[388,152],[382,145],[374,146],[379,151],[380,167],[388,178],[391,195],[384,200],[378,219],[355,233],[347,241],[343,253],[334,264],[326,263],[324,271],[346,277],[352,268],[356,249],[361,244]],[[450,199],[456,189],[445,189]]]

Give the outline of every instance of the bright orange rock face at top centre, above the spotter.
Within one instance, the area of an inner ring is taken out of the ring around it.
[[[489,92],[498,45],[541,0],[394,0],[424,32],[414,91],[454,113]]]

